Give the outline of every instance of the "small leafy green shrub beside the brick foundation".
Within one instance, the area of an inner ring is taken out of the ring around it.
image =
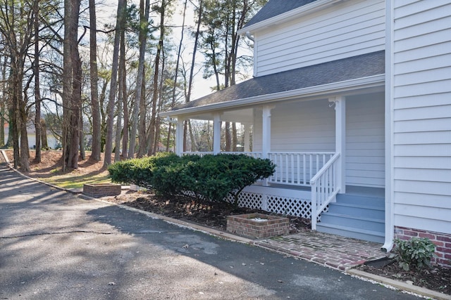
[[[435,244],[427,237],[412,237],[410,240],[396,238],[395,259],[404,270],[420,270],[431,266]]]

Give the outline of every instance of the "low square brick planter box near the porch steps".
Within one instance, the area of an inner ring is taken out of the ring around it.
[[[227,231],[252,238],[287,235],[290,233],[290,221],[281,216],[239,214],[227,216]]]

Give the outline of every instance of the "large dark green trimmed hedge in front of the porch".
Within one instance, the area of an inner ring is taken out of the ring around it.
[[[134,183],[152,188],[162,195],[178,195],[190,190],[197,197],[224,201],[238,196],[247,185],[274,174],[276,166],[269,159],[247,155],[185,155],[159,153],[153,157],[130,159],[111,164],[111,181]]]

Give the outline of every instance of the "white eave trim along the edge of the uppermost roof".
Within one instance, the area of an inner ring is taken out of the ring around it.
[[[327,8],[328,6],[332,6],[333,4],[336,4],[338,2],[345,1],[345,0],[319,0],[312,2],[310,4],[306,4],[304,6],[301,6],[299,8],[292,9],[291,11],[287,11],[286,13],[282,13],[280,15],[276,15],[273,18],[269,18],[266,20],[263,20],[261,22],[245,26],[242,29],[237,31],[237,34],[245,34],[246,32],[256,32],[258,30],[262,30],[270,25],[275,25],[281,22],[288,22],[290,20],[293,20],[295,18],[299,18],[302,15],[307,15],[309,13],[314,13],[315,11],[320,11],[324,8]]]

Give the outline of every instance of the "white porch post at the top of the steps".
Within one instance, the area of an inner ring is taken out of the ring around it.
[[[335,152],[340,153],[337,169],[337,187],[346,193],[346,99],[344,96],[330,98],[335,102]]]

